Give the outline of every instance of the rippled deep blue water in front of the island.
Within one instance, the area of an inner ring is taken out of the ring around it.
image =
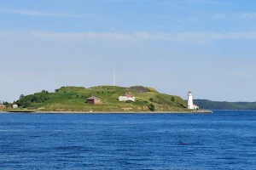
[[[256,111],[3,113],[0,169],[256,169]]]

